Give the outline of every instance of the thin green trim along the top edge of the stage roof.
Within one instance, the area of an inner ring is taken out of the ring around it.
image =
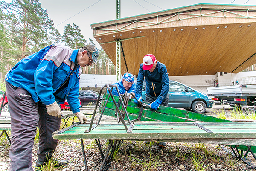
[[[191,6],[198,6],[198,5],[218,5],[218,6],[227,6],[228,5],[228,6],[255,6],[256,7],[256,5],[198,3],[198,4],[194,4],[194,5],[190,5],[190,6],[182,6],[182,7],[173,8],[173,9],[166,9],[166,10],[162,10],[162,11],[158,11],[158,12],[170,11],[170,10],[174,10],[174,9],[181,9],[181,8],[186,8],[186,7],[191,7]],[[151,12],[151,13],[146,13],[146,14],[134,15],[134,16],[131,16],[131,17],[138,17],[138,16],[154,14],[154,13],[158,13],[158,12]],[[125,18],[120,18],[120,19],[115,19],[115,20],[108,20],[108,21],[104,21],[104,22],[100,22],[100,23],[93,23],[93,24],[90,24],[90,26],[92,26],[94,24],[101,24],[101,23],[106,23],[106,22],[111,22],[111,21],[117,21],[117,20],[122,20],[122,19],[126,19],[126,18],[131,18],[131,17],[125,17]]]

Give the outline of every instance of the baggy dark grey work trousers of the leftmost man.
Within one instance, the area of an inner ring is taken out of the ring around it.
[[[50,116],[46,105],[35,103],[31,94],[6,81],[7,99],[11,115],[12,143],[9,150],[10,171],[33,171],[32,148],[39,128],[38,162],[46,162],[52,157],[57,140],[52,133],[60,128],[61,119]]]

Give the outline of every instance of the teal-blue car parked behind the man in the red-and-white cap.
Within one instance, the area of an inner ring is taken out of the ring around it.
[[[170,80],[169,83],[169,107],[184,108],[186,110],[192,109],[196,113],[204,113],[207,108],[212,108],[212,98],[206,94],[177,81]],[[143,81],[142,99],[144,101],[146,100],[145,84],[145,81]]]

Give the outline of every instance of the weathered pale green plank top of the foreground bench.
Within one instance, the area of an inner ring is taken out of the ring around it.
[[[122,124],[111,124],[111,125],[99,125],[89,133],[84,133],[88,129],[88,125],[77,125],[76,127],[70,128],[61,134],[54,134],[56,139],[255,139],[256,141],[256,129],[228,129],[222,126],[218,129],[211,129],[213,133],[207,133],[206,131],[198,128],[191,123],[180,125],[177,123],[170,124],[169,128],[166,129],[167,124],[155,124],[156,129],[151,129],[151,124],[134,125],[132,133],[126,133],[125,128]],[[218,125],[218,124],[217,124]],[[231,123],[233,125],[233,123]],[[255,124],[256,125],[256,124]],[[253,128],[255,128],[255,125]],[[191,128],[188,128],[190,126]],[[158,127],[158,128],[157,128]],[[173,128],[175,129],[173,129]],[[116,128],[116,129],[113,129]]]

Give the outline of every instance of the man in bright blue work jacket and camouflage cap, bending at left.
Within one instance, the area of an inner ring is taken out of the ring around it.
[[[11,115],[12,143],[10,171],[33,171],[31,154],[39,127],[36,167],[52,157],[57,140],[52,133],[60,128],[58,103],[67,99],[81,123],[87,118],[80,112],[79,75],[81,67],[97,64],[98,49],[86,45],[79,50],[51,45],[19,61],[6,74],[6,90]],[[67,165],[58,160],[57,166]]]

